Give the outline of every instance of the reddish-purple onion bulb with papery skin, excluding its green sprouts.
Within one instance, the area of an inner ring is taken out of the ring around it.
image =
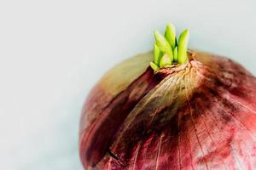
[[[85,169],[256,169],[256,78],[236,62],[190,51],[157,73],[153,54],[109,71],[82,111]]]

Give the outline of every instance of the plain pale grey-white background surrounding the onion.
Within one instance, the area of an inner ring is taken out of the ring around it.
[[[251,0],[0,2],[0,169],[79,170],[86,94],[117,62],[152,48],[154,29],[190,29],[190,48],[256,75]]]

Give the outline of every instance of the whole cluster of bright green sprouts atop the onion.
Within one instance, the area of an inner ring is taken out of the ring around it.
[[[154,62],[150,63],[154,71],[173,63],[180,65],[188,60],[189,30],[183,31],[177,41],[175,27],[169,23],[166,26],[165,36],[154,31]]]

